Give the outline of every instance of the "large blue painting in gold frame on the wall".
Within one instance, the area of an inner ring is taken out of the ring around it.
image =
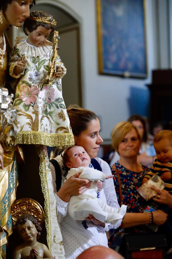
[[[97,0],[99,73],[146,78],[144,0]]]

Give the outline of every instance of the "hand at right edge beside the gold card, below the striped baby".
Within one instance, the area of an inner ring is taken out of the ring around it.
[[[169,206],[169,208],[172,209],[172,195],[168,191],[164,189],[160,190],[155,186],[151,186],[151,189],[157,192],[157,194],[155,194],[156,198],[153,197],[154,201],[161,204],[166,204],[167,206]]]

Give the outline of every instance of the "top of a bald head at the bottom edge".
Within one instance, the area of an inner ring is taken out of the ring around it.
[[[111,248],[96,245],[84,250],[76,259],[122,259],[123,257]]]

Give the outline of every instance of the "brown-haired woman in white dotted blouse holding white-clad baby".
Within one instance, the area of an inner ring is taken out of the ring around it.
[[[91,158],[97,156],[100,144],[103,142],[99,135],[100,123],[97,115],[91,111],[79,108],[77,106],[69,107],[67,109],[72,131],[75,138],[75,144],[82,146]],[[63,155],[63,153],[62,153]],[[104,224],[89,215],[87,220],[74,221],[69,214],[67,214],[67,207],[69,199],[72,195],[79,195],[84,193],[90,186],[91,181],[80,179],[80,173],[70,177],[67,181],[67,171],[62,163],[62,155],[55,158],[60,165],[62,174],[61,188],[55,194],[56,204],[58,208],[58,216],[60,221],[60,228],[63,237],[64,250],[66,258],[76,258],[81,252],[93,245],[103,245],[107,247],[107,237],[105,231],[111,228],[118,228],[122,220],[118,220],[116,224]],[[101,170],[107,176],[111,175],[109,165],[102,159],[96,158]],[[53,165],[51,166],[52,177],[54,179],[54,191],[56,192],[55,180],[58,177]],[[58,171],[58,174],[60,172]],[[57,182],[56,182],[57,183]],[[58,183],[57,183],[58,184]],[[98,193],[107,205],[119,208],[116,197],[113,179],[104,180],[103,190]]]

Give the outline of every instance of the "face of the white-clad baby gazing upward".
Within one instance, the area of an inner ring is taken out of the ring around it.
[[[91,163],[91,158],[82,146],[73,146],[67,151],[69,161],[67,162],[67,167],[78,168],[80,166],[89,166]]]

